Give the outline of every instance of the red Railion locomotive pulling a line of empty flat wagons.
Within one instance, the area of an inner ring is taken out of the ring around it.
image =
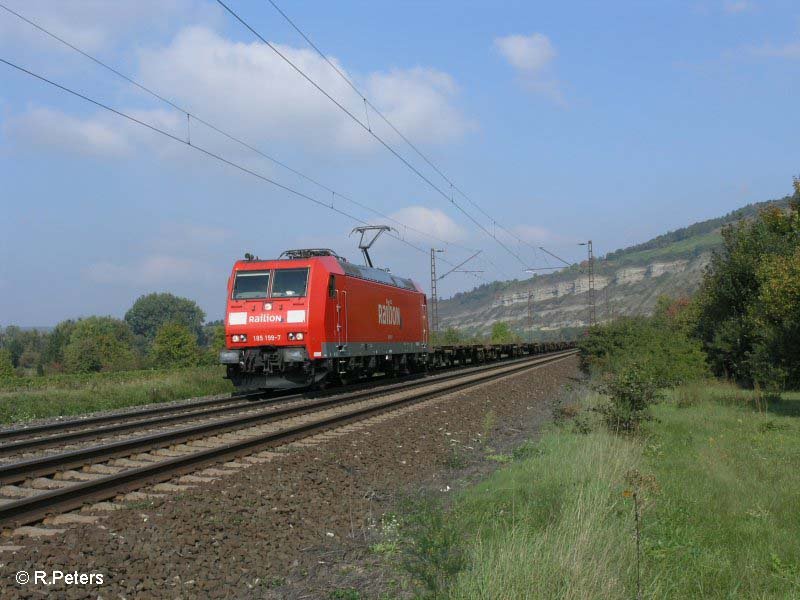
[[[323,388],[570,346],[431,347],[425,292],[367,262],[357,265],[320,248],[236,261],[227,287],[226,347],[219,355],[236,389]]]

